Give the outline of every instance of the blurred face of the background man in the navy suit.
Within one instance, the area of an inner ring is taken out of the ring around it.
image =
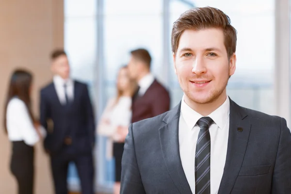
[[[68,79],[70,76],[68,58],[65,55],[61,55],[54,59],[51,65],[51,70],[54,74],[61,76],[63,79]]]

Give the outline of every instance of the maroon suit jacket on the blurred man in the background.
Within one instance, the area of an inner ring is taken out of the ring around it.
[[[169,110],[169,92],[162,84],[154,80],[143,96],[133,97],[131,123],[157,116]]]

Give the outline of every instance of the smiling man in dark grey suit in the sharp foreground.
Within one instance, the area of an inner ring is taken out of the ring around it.
[[[171,111],[129,127],[121,194],[289,194],[286,120],[226,95],[236,30],[222,11],[194,8],[172,30],[184,96]],[[211,160],[210,160],[211,159]]]

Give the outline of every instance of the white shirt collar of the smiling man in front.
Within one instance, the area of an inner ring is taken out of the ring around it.
[[[226,101],[208,116],[215,122],[219,129],[223,129],[229,116],[229,110],[229,98],[226,97]],[[197,121],[203,117],[186,104],[184,96],[181,102],[181,115],[190,129],[193,129]]]

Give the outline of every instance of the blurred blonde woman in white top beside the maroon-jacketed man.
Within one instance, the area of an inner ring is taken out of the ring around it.
[[[98,134],[108,137],[107,159],[115,160],[114,194],[119,194],[121,179],[121,159],[128,127],[131,121],[131,99],[137,84],[129,78],[127,66],[120,68],[117,77],[117,95],[111,98],[101,116]]]

